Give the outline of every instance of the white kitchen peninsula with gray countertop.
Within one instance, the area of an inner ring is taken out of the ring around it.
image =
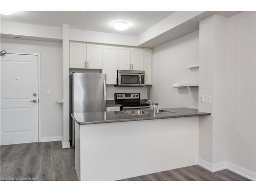
[[[169,113],[72,114],[79,180],[114,181],[197,164],[199,118],[210,113],[164,110]]]

